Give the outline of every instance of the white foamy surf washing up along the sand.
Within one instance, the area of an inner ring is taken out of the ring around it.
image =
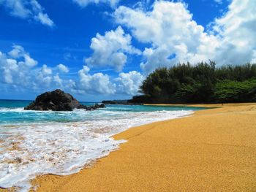
[[[81,111],[80,115],[85,113]],[[39,174],[72,174],[85,164],[118,149],[117,134],[132,126],[180,118],[192,111],[86,113],[94,117],[76,123],[31,123],[0,127],[0,186],[29,191]],[[102,118],[101,118],[102,117]],[[14,142],[15,141],[15,142]]]

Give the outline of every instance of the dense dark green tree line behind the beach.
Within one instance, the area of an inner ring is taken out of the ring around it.
[[[217,67],[208,63],[177,64],[148,74],[140,86],[151,103],[223,103],[256,101],[256,64]]]

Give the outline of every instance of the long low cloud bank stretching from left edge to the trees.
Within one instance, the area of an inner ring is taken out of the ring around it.
[[[90,73],[89,66],[78,71],[78,79],[61,78],[61,73],[68,72],[64,64],[39,66],[20,45],[13,45],[8,53],[0,52],[0,84],[3,87],[34,91],[62,88],[80,94],[133,95],[138,93],[144,79],[140,72],[135,71],[121,72],[117,78],[101,72]]]

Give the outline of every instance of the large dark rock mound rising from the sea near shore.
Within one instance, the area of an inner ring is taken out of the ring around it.
[[[72,111],[75,108],[86,109],[86,106],[80,104],[69,93],[56,89],[55,91],[45,92],[37,96],[36,100],[31,102],[24,110]]]

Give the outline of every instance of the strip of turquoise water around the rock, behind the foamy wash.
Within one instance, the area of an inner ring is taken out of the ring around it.
[[[86,112],[81,114],[82,110],[75,112],[39,112],[24,111],[23,107],[30,104],[31,101],[18,100],[0,100],[0,125],[13,123],[42,123],[42,122],[76,122],[84,120],[95,120],[96,118],[116,118],[123,112],[156,112],[156,111],[178,111],[178,110],[201,110],[202,107],[160,107],[143,105],[107,105],[105,109]],[[92,102],[81,102],[82,104],[93,105]],[[105,114],[102,116],[102,112]],[[109,112],[109,113],[106,113]],[[120,112],[114,114],[111,112]]]

